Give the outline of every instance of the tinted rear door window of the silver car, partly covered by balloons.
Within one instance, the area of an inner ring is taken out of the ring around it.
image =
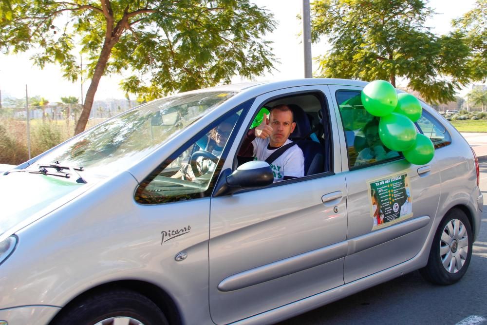
[[[337,91],[350,167],[367,166],[400,156],[386,148],[378,133],[379,118],[362,105],[359,91]]]

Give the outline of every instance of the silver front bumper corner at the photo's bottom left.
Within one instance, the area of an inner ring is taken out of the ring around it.
[[[47,325],[60,309],[55,306],[21,306],[0,309],[0,324],[2,324],[1,321],[4,321],[8,325]]]

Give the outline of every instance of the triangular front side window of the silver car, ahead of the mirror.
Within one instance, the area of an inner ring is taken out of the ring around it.
[[[204,197],[241,113],[227,116],[198,140],[178,150],[173,155],[176,158],[167,161],[161,172],[150,177],[149,182],[143,182],[135,193],[135,200],[142,204],[160,204]]]

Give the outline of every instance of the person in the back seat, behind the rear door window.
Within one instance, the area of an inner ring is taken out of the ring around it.
[[[397,157],[399,153],[387,149],[379,137],[379,121],[370,120],[363,128],[367,147],[358,153],[354,166],[373,163],[388,158]]]

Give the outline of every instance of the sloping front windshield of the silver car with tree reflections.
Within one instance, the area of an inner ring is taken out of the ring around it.
[[[90,129],[37,161],[98,175],[127,169],[234,92],[182,94],[151,101]]]

